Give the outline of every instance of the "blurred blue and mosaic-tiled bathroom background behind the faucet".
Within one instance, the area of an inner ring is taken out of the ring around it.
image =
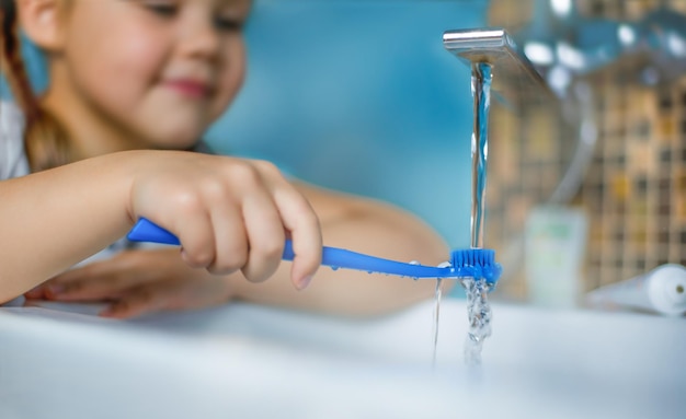
[[[206,138],[399,205],[467,247],[470,73],[442,35],[503,26],[546,85],[511,83],[491,112],[484,243],[505,268],[493,298],[575,305],[686,264],[684,14],[683,0],[256,0],[245,86]]]

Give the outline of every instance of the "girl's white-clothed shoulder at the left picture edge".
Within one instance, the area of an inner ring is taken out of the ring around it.
[[[24,115],[15,104],[0,101],[0,179],[28,174],[24,124]]]

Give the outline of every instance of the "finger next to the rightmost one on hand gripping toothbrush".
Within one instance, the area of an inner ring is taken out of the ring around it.
[[[243,276],[260,282],[270,278],[278,268],[284,253],[284,224],[272,197],[253,194],[243,203],[243,219],[250,243],[248,263]]]

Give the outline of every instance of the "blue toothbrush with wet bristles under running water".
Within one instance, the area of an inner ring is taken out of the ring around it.
[[[152,242],[180,245],[179,238],[171,232],[162,229],[146,218],[140,218],[128,233],[127,238],[133,242]],[[286,240],[284,260],[293,260],[293,243]],[[365,270],[369,273],[398,275],[401,277],[419,278],[484,278],[488,283],[494,284],[502,272],[500,264],[495,263],[495,252],[485,248],[470,248],[453,251],[450,266],[432,267],[402,261],[382,259],[362,253],[351,252],[336,247],[323,247],[321,264],[333,269],[346,268]]]

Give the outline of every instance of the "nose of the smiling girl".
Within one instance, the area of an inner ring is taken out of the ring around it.
[[[205,60],[217,57],[220,39],[213,21],[210,11],[197,11],[188,15],[180,36],[183,55]]]

